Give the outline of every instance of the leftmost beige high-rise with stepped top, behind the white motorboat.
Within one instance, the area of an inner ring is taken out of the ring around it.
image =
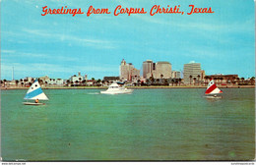
[[[140,78],[140,70],[134,68],[132,63],[126,63],[126,61],[123,59],[120,65],[120,80],[132,81],[134,78]]]

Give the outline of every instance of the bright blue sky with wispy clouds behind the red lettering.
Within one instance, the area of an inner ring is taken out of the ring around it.
[[[0,0],[1,79],[49,76],[68,79],[119,76],[122,59],[142,69],[143,61],[168,61],[183,70],[201,63],[207,75],[255,75],[253,0]],[[193,14],[189,5],[212,7]],[[108,8],[110,15],[46,15],[42,7]],[[146,15],[113,16],[118,6],[145,8]],[[150,16],[154,5],[180,5],[184,15]]]

